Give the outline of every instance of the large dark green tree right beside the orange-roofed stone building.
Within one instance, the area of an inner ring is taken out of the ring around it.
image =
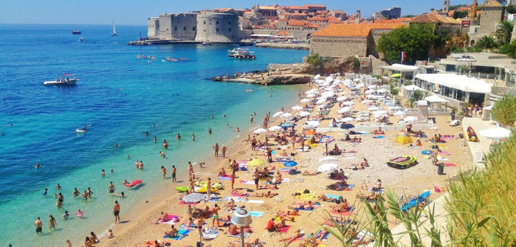
[[[426,60],[430,47],[438,36],[433,33],[433,25],[429,23],[413,23],[409,27],[400,27],[382,34],[378,40],[378,51],[383,52],[389,63],[400,61],[400,52],[405,52],[409,63]]]

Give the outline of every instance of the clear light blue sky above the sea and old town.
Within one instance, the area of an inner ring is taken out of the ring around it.
[[[467,4],[465,0],[451,0],[452,4]],[[481,0],[478,1],[482,3]],[[187,12],[222,7],[250,8],[260,5],[324,4],[329,9],[344,10],[354,14],[361,10],[363,17],[392,6],[401,7],[401,14],[420,14],[430,8],[442,7],[442,0],[1,0],[0,23],[56,23],[56,24],[117,24],[147,25],[147,17],[163,12]]]

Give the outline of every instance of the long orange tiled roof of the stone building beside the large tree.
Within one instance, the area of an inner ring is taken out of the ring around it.
[[[365,37],[369,35],[371,30],[393,30],[404,26],[403,23],[351,23],[351,24],[337,24],[332,23],[325,28],[314,32],[312,36],[359,36]]]

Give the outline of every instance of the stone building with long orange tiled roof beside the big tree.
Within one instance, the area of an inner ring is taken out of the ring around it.
[[[332,23],[310,38],[310,54],[332,57],[376,56],[376,44],[381,34],[404,23]]]

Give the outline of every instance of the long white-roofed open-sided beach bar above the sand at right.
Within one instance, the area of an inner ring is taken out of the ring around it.
[[[417,74],[416,86],[447,98],[451,102],[481,103],[491,94],[491,83],[458,74]]]

